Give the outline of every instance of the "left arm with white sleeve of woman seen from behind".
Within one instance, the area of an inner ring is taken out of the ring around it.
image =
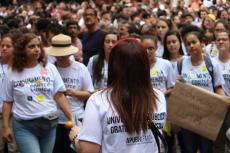
[[[96,100],[98,97],[101,96],[92,95],[89,98],[83,126],[78,122],[69,134],[70,140],[80,153],[99,153],[101,150],[103,131],[99,111],[100,103]]]

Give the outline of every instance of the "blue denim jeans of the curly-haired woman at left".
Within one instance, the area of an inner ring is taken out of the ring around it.
[[[56,127],[43,129],[34,121],[13,118],[13,131],[20,153],[52,153]]]

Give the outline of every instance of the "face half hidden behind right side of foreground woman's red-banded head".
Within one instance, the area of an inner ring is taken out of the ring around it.
[[[145,47],[149,60],[155,58],[156,56],[156,44],[152,39],[144,39],[142,45]]]

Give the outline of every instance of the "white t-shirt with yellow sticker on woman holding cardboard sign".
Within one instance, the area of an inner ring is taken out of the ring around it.
[[[222,86],[224,84],[224,79],[221,76],[220,67],[214,60],[211,61],[213,65],[214,87]],[[178,71],[177,74],[179,74]],[[186,83],[214,92],[212,78],[205,65],[205,61],[198,66],[193,66],[191,63],[191,57],[184,57],[181,76]]]

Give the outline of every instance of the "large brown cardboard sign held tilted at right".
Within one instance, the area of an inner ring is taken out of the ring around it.
[[[168,99],[168,120],[210,140],[216,140],[228,110],[226,97],[177,82]]]

